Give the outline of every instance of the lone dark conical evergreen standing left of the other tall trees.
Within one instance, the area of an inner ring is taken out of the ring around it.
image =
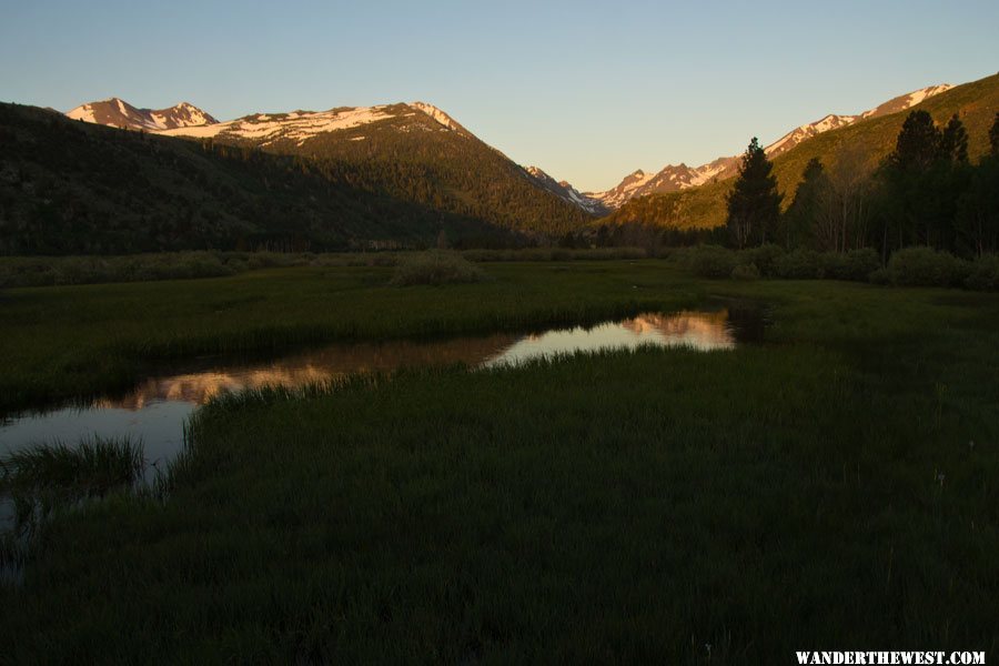
[[[767,242],[780,216],[781,195],[777,193],[774,164],[754,137],[743,161],[735,186],[728,194],[727,225],[738,248]]]

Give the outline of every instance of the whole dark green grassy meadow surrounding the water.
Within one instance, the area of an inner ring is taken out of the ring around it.
[[[57,515],[10,663],[788,663],[999,648],[999,295],[663,261],[0,292],[7,410],[170,359],[766,304],[734,351],[359,376],[203,407],[165,497]]]

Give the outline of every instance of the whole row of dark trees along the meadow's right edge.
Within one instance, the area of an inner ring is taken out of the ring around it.
[[[831,164],[813,159],[781,212],[773,163],[754,138],[727,199],[726,230],[738,249],[845,253],[872,248],[882,259],[927,246],[969,259],[999,251],[999,113],[990,152],[968,159],[968,134],[955,114],[941,125],[909,113],[895,150],[868,173],[862,147],[845,147]]]

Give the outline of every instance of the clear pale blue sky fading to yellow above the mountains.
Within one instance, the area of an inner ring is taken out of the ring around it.
[[[999,70],[999,2],[4,0],[0,100],[423,100],[582,190]]]

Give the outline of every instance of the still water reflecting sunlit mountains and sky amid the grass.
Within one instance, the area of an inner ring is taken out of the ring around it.
[[[81,437],[141,440],[151,471],[183,445],[183,424],[199,406],[223,392],[262,386],[294,389],[351,373],[464,363],[488,369],[558,354],[635,349],[642,345],[730,350],[741,327],[729,310],[646,313],[591,327],[554,329],[531,335],[494,334],[436,342],[337,344],[268,362],[206,360],[183,371],[148,377],[123,397],[85,406],[16,415],[0,422],[0,458],[36,443]]]

